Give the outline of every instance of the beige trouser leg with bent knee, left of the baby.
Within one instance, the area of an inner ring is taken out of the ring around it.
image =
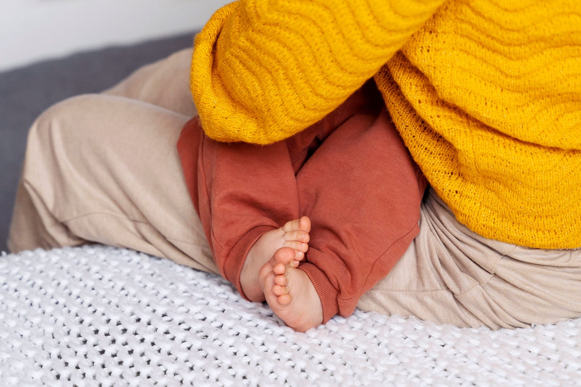
[[[196,114],[191,51],[144,66],[104,93],[66,99],[37,118],[10,251],[90,241],[218,273],[175,146]]]

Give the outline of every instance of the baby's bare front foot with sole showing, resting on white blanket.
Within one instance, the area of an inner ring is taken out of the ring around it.
[[[304,332],[323,321],[321,299],[309,276],[291,266],[294,252],[278,249],[260,269],[260,286],[266,302],[295,331]]]

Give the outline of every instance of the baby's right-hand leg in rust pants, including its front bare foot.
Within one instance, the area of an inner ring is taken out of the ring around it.
[[[304,331],[358,299],[389,273],[418,233],[425,179],[389,115],[357,114],[339,126],[297,173],[300,211],[311,218],[306,260],[287,253],[261,270],[267,302]],[[302,272],[302,273],[299,273]]]

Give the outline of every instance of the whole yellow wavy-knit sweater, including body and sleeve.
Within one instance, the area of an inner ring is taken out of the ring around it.
[[[208,136],[269,144],[373,76],[460,222],[581,247],[579,0],[241,0],[196,37],[191,86]]]

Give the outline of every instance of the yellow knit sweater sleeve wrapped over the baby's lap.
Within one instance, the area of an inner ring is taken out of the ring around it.
[[[240,0],[196,36],[191,89],[206,134],[270,144],[371,78],[444,0]]]

